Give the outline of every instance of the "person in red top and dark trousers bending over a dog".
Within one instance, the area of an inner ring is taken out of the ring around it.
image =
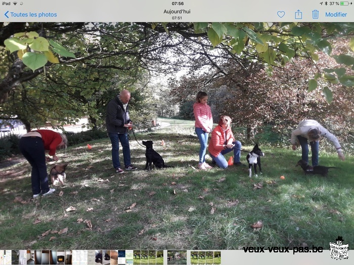
[[[31,183],[33,198],[40,194],[49,195],[55,191],[48,183],[46,154],[52,155],[54,161],[58,161],[55,151],[58,148],[66,148],[68,140],[64,134],[51,130],[36,130],[24,134],[19,142],[19,148],[28,163],[32,166]]]

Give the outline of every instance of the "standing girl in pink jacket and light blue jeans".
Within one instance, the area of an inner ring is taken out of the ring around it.
[[[207,101],[208,94],[203,91],[199,91],[196,97],[196,102],[193,104],[195,133],[197,134],[200,142],[198,168],[201,170],[212,169],[212,167],[205,163],[208,136],[212,129],[212,115]]]

